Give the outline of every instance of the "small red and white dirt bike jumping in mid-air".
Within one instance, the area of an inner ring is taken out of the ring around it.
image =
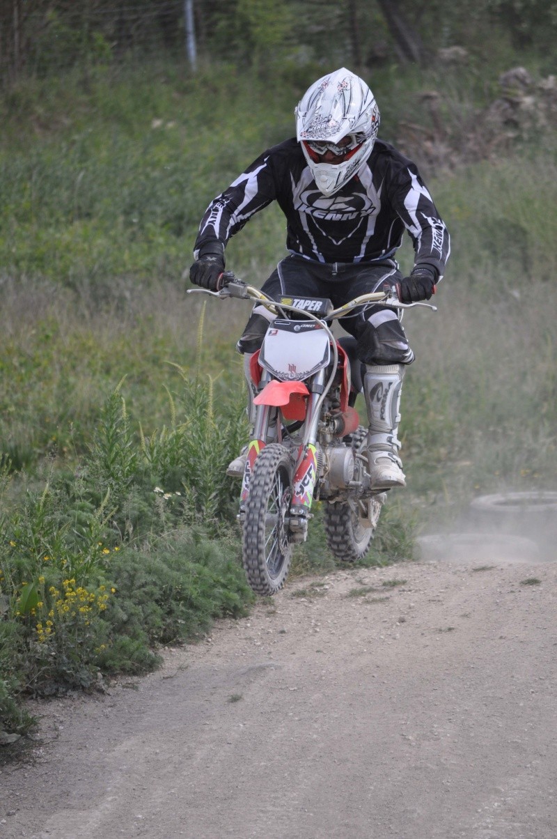
[[[367,554],[387,498],[388,490],[370,484],[367,429],[354,408],[362,392],[356,339],[336,338],[330,325],[362,305],[416,304],[401,303],[391,289],[333,309],[323,298],[271,300],[233,274],[224,282],[220,291],[189,290],[252,300],[273,315],[250,361],[253,431],[238,513],[247,581],[273,595],[284,585],[293,546],[307,539],[314,500],[323,502],[333,555],[353,562]]]

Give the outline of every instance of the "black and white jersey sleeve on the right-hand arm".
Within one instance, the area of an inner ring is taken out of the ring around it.
[[[435,268],[440,279],[450,255],[450,236],[413,164],[398,169],[390,198],[414,243],[414,265]]]

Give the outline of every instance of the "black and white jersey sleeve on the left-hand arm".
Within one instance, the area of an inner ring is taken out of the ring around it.
[[[263,152],[232,184],[217,195],[203,216],[194,254],[210,242],[221,242],[223,248],[247,221],[276,198],[276,186],[269,151]]]

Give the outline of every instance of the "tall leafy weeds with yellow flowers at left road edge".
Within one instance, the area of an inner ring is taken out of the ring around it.
[[[232,482],[221,480],[245,420],[233,401],[213,403],[200,373],[182,378],[184,404],[171,400],[158,435],[133,433],[121,382],[73,473],[49,466],[10,490],[3,468],[0,710],[12,729],[27,724],[14,711],[19,691],[143,672],[157,663],[154,645],[195,638],[252,600],[226,524]]]

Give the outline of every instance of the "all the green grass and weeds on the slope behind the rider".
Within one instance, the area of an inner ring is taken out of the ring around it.
[[[506,69],[375,74],[393,143],[405,122],[431,133],[420,96],[445,91],[452,152],[420,164],[453,237],[440,310],[404,320],[409,487],[385,507],[375,563],[409,558],[415,529],[475,493],[554,488],[554,140],[533,123],[534,138],[461,162],[456,143]],[[233,352],[247,311],[186,296],[180,278],[208,201],[291,135],[318,73],[98,66],[0,99],[0,729],[29,728],[25,693],[144,672],[158,645],[247,613],[224,477],[247,431]],[[283,253],[269,207],[227,264],[260,284]],[[293,572],[334,567],[314,526]]]

